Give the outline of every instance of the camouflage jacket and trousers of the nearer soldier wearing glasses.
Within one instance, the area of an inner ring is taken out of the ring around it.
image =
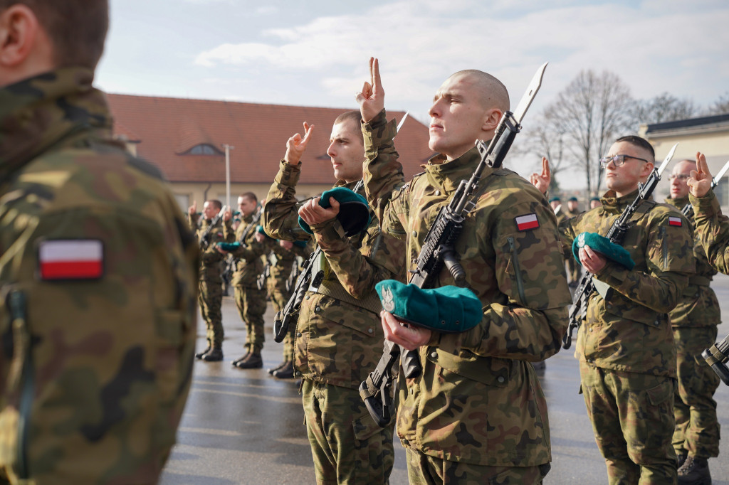
[[[607,234],[636,194],[609,191],[601,207],[564,221],[565,252],[581,232]],[[693,275],[693,242],[681,214],[646,200],[623,247],[634,269],[608,261],[595,275],[607,288],[590,295],[577,334],[581,390],[609,483],[675,483],[676,350],[667,313]]]

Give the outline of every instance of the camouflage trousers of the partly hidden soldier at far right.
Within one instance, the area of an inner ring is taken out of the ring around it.
[[[714,391],[719,376],[701,357],[717,339],[717,327],[674,327],[678,358],[678,386],[674,399],[676,453],[695,457],[719,456],[719,422]]]

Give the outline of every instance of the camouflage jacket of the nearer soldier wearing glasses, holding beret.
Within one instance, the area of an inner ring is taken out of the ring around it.
[[[581,232],[607,235],[636,194],[617,198],[609,191],[601,207],[564,221],[560,226],[564,250],[572,251],[572,241]],[[667,314],[694,272],[688,222],[671,207],[646,200],[631,219],[623,247],[635,267],[628,270],[608,261],[594,275],[609,290],[605,296],[597,291],[590,295],[574,355],[597,367],[676,377],[676,350]]]

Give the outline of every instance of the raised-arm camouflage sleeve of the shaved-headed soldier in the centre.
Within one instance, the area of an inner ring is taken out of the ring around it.
[[[369,123],[362,123],[364,191],[379,220],[383,220],[383,212],[393,192],[405,184],[393,143],[396,134],[395,120],[388,122],[384,109]]]

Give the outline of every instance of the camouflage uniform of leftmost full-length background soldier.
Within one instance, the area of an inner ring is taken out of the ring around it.
[[[195,231],[195,236],[200,242],[200,237],[210,227],[211,220],[204,219],[199,221],[199,214],[188,214],[187,221],[190,229]],[[230,222],[225,225],[230,225]],[[200,313],[203,315],[206,326],[206,339],[208,347],[214,349],[222,349],[223,344],[223,320],[222,320],[222,301],[223,301],[223,260],[225,255],[217,251],[218,242],[227,242],[228,239],[223,234],[222,218],[209,232],[210,244],[206,249],[200,248],[200,280],[198,281],[198,303],[200,304]]]

